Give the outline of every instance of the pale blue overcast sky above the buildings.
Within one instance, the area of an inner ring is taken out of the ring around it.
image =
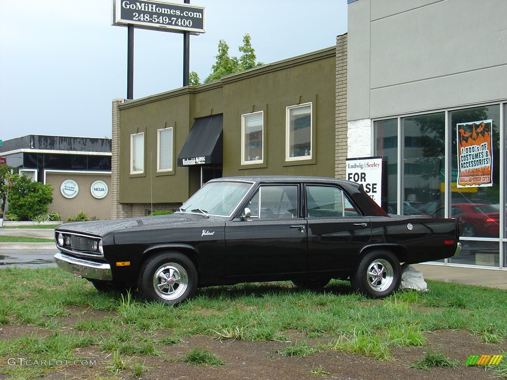
[[[174,3],[183,3],[183,0]],[[347,31],[347,0],[191,0],[206,32],[190,38],[201,81],[219,40],[240,56],[250,34],[257,60],[328,48]],[[111,137],[111,101],[126,98],[127,28],[112,0],[0,0],[0,140],[29,134]],[[183,85],[183,36],[135,29],[134,99]]]

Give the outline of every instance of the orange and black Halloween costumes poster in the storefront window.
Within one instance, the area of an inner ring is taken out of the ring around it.
[[[457,124],[457,187],[493,186],[493,121]]]

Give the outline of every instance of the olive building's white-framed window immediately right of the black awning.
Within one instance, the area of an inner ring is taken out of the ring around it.
[[[264,161],[264,112],[248,113],[241,118],[241,165]]]

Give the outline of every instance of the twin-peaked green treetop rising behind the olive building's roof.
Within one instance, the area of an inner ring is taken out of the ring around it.
[[[238,48],[242,53],[241,57],[231,57],[229,55],[229,45],[224,40],[219,41],[218,54],[215,56],[216,62],[211,66],[211,73],[204,80],[204,83],[218,81],[225,75],[233,74],[252,67],[260,66],[263,63],[256,63],[255,50],[251,46],[251,37],[249,34],[243,36],[243,45]]]

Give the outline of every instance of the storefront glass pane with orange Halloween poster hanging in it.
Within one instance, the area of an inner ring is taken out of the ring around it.
[[[458,219],[463,237],[499,238],[499,119],[499,105],[449,112],[451,204],[459,209],[452,216]],[[498,249],[496,243],[495,249]],[[491,254],[498,255],[497,251]]]

